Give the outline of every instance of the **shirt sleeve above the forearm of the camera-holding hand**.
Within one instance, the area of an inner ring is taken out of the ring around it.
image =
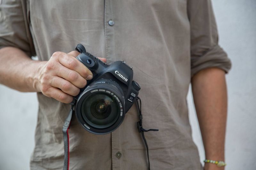
[[[0,48],[13,46],[35,55],[26,0],[0,0]]]

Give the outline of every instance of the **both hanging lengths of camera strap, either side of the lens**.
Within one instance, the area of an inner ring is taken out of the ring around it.
[[[63,140],[64,140],[64,166],[63,166],[63,170],[69,170],[69,135],[68,135],[68,130],[70,128],[70,123],[71,123],[71,118],[72,118],[72,115],[73,115],[74,104],[75,104],[74,102],[71,103],[71,109],[68,113],[68,116],[67,116],[67,118],[64,122],[63,128],[62,128]],[[137,104],[137,108],[138,108],[138,112],[139,112],[139,122],[137,122],[137,128],[138,128],[139,133],[141,133],[142,139],[143,139],[144,144],[145,144],[146,149],[147,149],[148,170],[150,170],[150,162],[149,162],[149,154],[148,154],[148,143],[147,143],[147,140],[145,138],[144,132],[158,131],[158,129],[145,130],[142,127],[142,112],[141,112],[140,97],[136,98],[136,104]]]

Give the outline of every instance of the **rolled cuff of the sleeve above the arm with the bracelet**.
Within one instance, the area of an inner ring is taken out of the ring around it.
[[[191,77],[209,67],[218,67],[226,73],[231,68],[227,53],[218,45],[210,48],[201,56],[191,56]]]

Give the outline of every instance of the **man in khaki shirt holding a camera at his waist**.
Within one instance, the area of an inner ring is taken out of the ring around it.
[[[210,0],[2,0],[0,82],[37,92],[36,146],[31,169],[63,168],[62,125],[92,73],[76,44],[108,64],[125,60],[140,86],[151,169],[202,169],[191,137],[186,96],[192,83],[205,159],[224,161],[226,53],[218,46]],[[37,55],[40,61],[31,60]],[[70,169],[147,169],[136,106],[112,133],[94,135],[73,117]],[[205,163],[205,170],[223,170]]]

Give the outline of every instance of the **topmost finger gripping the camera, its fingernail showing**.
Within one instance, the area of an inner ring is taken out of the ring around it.
[[[74,53],[73,53],[74,54]],[[58,56],[58,60],[60,64],[63,66],[76,71],[79,73],[84,79],[91,80],[92,72],[84,66],[80,61],[78,61],[74,56],[63,53],[63,55]]]

